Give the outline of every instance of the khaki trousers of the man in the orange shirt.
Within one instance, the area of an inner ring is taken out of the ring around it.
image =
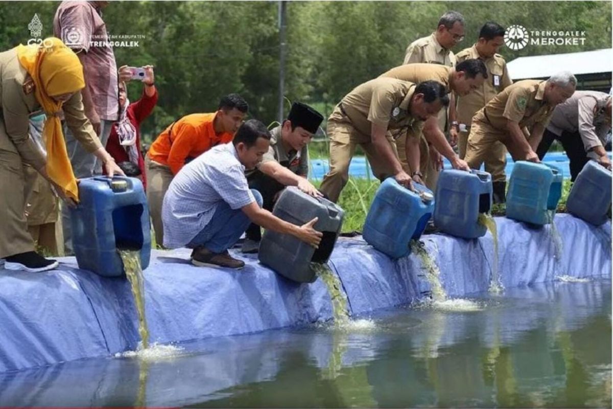
[[[164,224],[162,224],[162,203],[164,194],[172,182],[174,175],[170,167],[162,165],[145,156],[147,168],[147,201],[149,202],[149,215],[155,232],[155,240],[158,246],[164,245]]]

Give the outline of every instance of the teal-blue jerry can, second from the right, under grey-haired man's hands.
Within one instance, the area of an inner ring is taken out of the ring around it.
[[[506,216],[539,226],[550,223],[548,211],[555,211],[560,201],[562,179],[562,172],[555,166],[516,162],[506,196]]]

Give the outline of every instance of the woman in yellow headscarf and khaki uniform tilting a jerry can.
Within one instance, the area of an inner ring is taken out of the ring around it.
[[[56,38],[36,46],[0,53],[0,259],[9,270],[39,272],[58,262],[34,251],[28,233],[22,164],[34,167],[67,204],[78,201],[75,180],[66,153],[59,113],[76,139],[104,163],[108,175],[123,174],[102,147],[85,117],[81,97],[83,67],[70,48]],[[29,116],[47,115],[43,140],[47,154],[28,135]]]

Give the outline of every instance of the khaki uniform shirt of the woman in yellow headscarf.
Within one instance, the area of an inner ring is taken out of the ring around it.
[[[28,86],[28,84],[31,84]],[[45,155],[29,137],[29,115],[40,112],[34,96],[34,84],[17,59],[17,50],[0,53],[0,150],[18,153],[35,169],[45,165]],[[83,110],[81,93],[75,93],[63,104],[64,118],[88,152],[102,147]]]

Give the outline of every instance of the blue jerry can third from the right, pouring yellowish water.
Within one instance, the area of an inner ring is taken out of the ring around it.
[[[434,224],[446,234],[476,239],[487,232],[479,213],[492,208],[492,175],[479,170],[447,169],[436,184]]]

